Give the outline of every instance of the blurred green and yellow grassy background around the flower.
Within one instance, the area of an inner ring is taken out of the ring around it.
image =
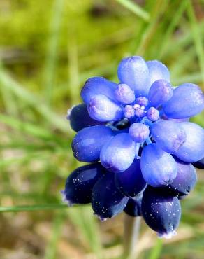
[[[119,258],[120,214],[105,223],[89,206],[67,209],[59,190],[80,165],[66,110],[91,76],[117,80],[127,55],[160,59],[173,85],[204,87],[204,1],[0,1],[0,258]],[[204,115],[192,119],[204,126]],[[204,174],[182,201],[177,236],[145,223],[138,258],[204,257]]]

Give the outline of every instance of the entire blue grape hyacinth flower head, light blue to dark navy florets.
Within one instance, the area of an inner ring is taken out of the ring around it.
[[[126,57],[117,74],[119,83],[89,78],[84,103],[68,114],[78,132],[73,155],[91,164],[68,176],[62,194],[69,205],[91,202],[101,221],[125,211],[170,237],[196,183],[192,163],[203,168],[204,130],[189,118],[204,109],[204,95],[192,83],[173,87],[156,60]]]

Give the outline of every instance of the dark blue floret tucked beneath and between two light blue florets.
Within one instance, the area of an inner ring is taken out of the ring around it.
[[[140,169],[140,160],[134,160],[124,172],[116,173],[115,184],[125,196],[138,195],[147,185]]]

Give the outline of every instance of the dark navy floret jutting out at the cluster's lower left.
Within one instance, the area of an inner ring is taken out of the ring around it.
[[[100,163],[75,169],[66,179],[65,189],[61,191],[64,201],[69,206],[91,202],[94,184],[103,174],[104,168]]]

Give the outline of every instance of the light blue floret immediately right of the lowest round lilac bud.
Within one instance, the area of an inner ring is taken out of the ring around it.
[[[180,123],[171,120],[160,120],[150,127],[152,137],[163,151],[174,153],[187,139]]]

